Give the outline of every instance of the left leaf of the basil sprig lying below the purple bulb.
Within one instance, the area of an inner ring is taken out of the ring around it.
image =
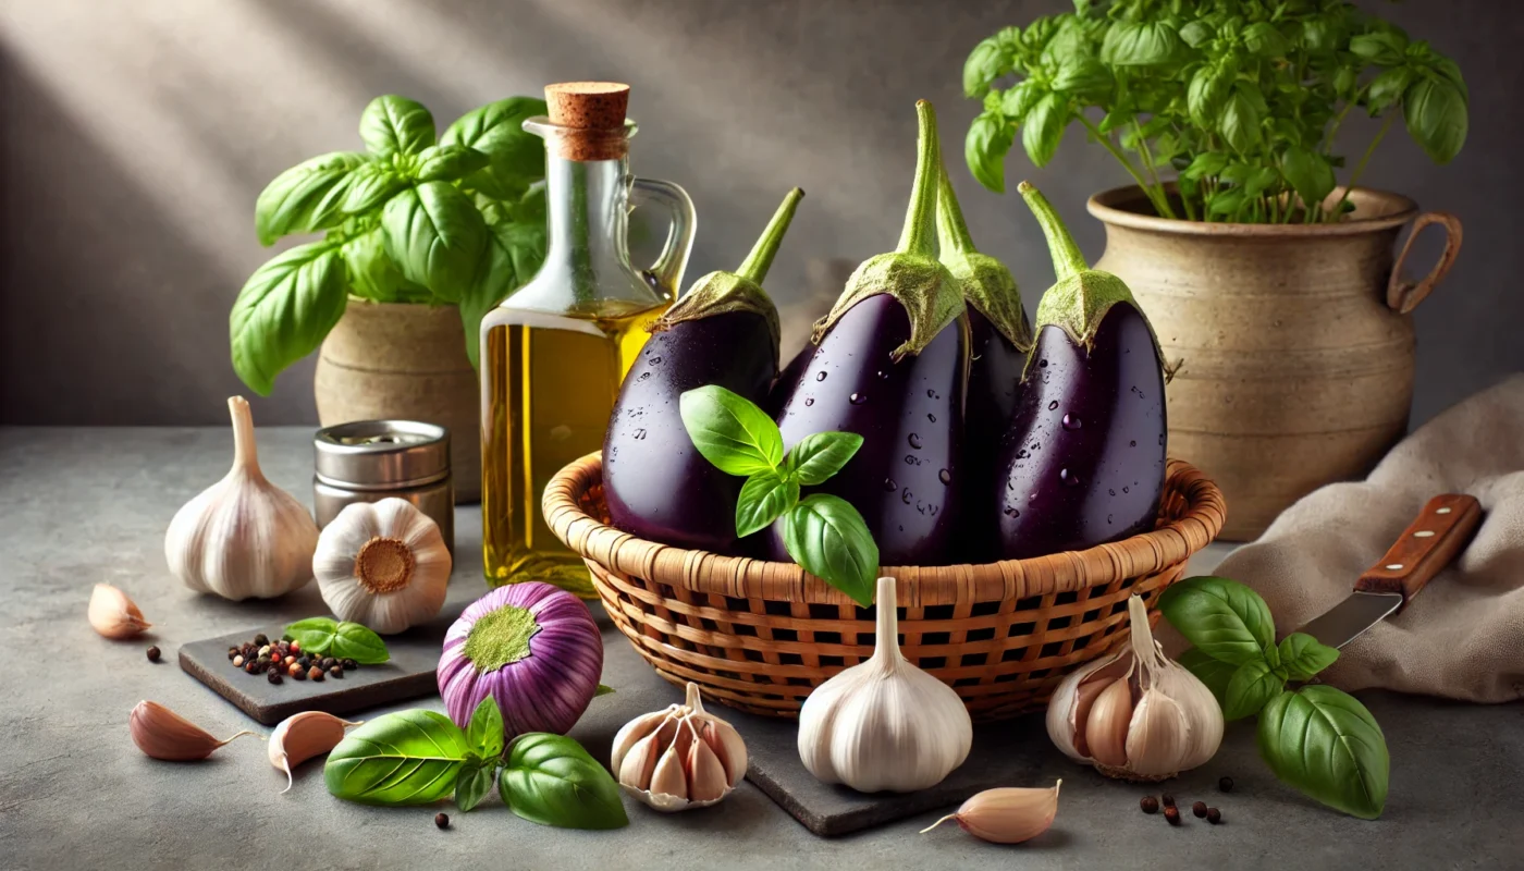
[[[431,804],[456,790],[471,747],[437,711],[384,714],[344,735],[323,764],[328,792],[363,804]]]

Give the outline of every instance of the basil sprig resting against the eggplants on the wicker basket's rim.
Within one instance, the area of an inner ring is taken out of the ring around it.
[[[709,384],[678,403],[693,447],[725,474],[744,476],[736,499],[736,535],[750,535],[783,519],[783,546],[806,572],[863,607],[873,604],[878,545],[847,500],[815,493],[800,500],[800,485],[823,484],[863,447],[856,433],[814,433],[783,455],[773,418],[736,394]]]

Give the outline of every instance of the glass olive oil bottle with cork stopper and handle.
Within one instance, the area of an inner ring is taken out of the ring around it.
[[[482,557],[488,583],[550,581],[593,598],[582,558],[546,525],[539,497],[568,462],[599,450],[619,383],[677,296],[693,243],[693,204],[669,182],[629,175],[629,88],[546,88],[550,244],[539,273],[482,320]],[[629,265],[628,214],[672,214],[660,259]]]

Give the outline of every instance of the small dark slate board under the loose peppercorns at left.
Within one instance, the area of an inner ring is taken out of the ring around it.
[[[343,677],[325,680],[293,680],[270,683],[264,674],[247,674],[233,668],[227,648],[251,641],[261,632],[280,638],[280,625],[253,627],[206,641],[194,641],[180,648],[180,668],[215,689],[244,714],[273,726],[300,711],[352,714],[366,708],[390,705],[439,691],[434,667],[445,641],[450,621],[411,628],[386,638],[392,660],[383,665],[361,665]]]

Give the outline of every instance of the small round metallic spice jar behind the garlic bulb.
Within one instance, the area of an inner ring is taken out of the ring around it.
[[[354,502],[405,499],[439,525],[454,555],[450,430],[418,421],[354,421],[317,430],[312,448],[319,528]]]

